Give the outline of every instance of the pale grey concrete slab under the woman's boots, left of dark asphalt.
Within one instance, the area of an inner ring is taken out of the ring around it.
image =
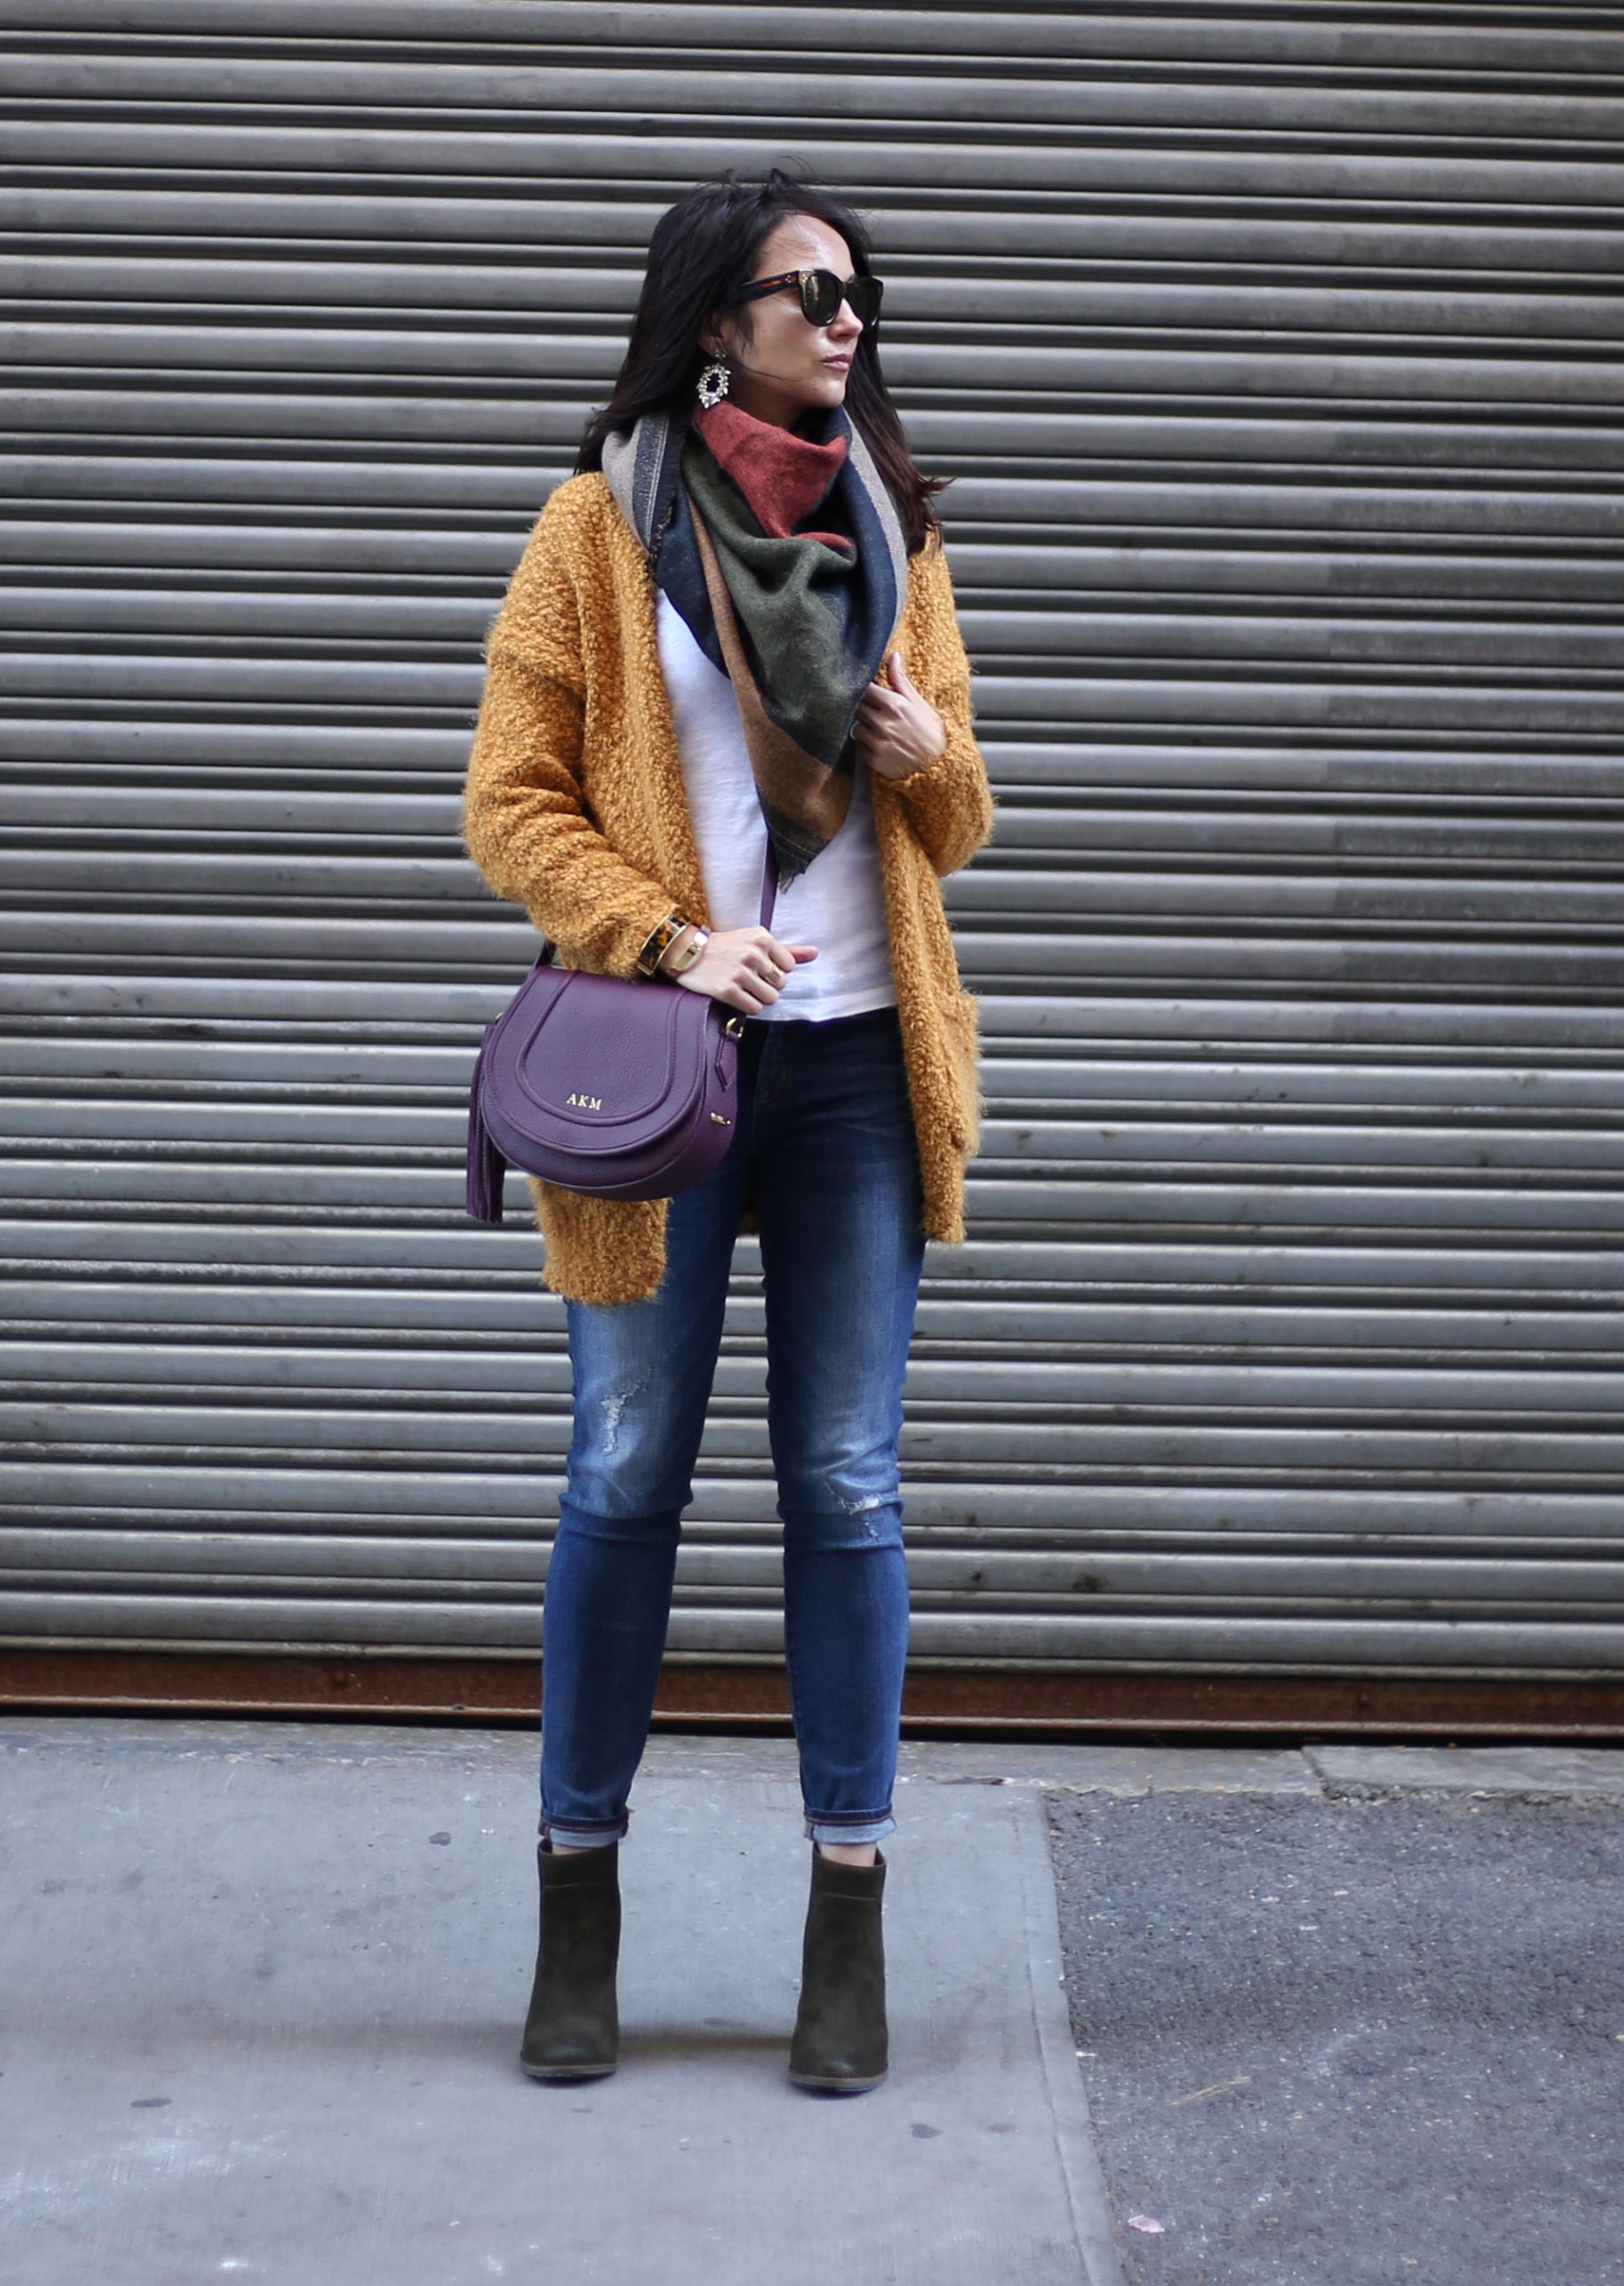
[[[532,1740],[2,1721],[7,2277],[1117,2286],[1044,1797],[907,1767],[893,2073],[829,2103],[783,2078],[786,1747],[656,1742],[626,2060],[560,2089],[514,2060]]]

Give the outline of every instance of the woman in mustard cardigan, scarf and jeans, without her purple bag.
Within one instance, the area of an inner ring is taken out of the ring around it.
[[[466,812],[484,878],[564,962],[742,1020],[738,1132],[706,1182],[669,1202],[537,1184],[576,1422],[546,1589],[534,2078],[617,2062],[617,1845],[747,1212],[813,1843],[790,2078],[886,2071],[902,1369],[975,1141],[939,876],[991,805],[877,315],[834,199],[774,171],[672,208],[614,395],[491,631]]]

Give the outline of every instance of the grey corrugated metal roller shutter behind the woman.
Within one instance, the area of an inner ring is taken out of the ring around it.
[[[477,640],[658,210],[799,158],[1000,796],[916,1655],[1617,1671],[1617,23],[0,0],[0,1639],[534,1644]],[[740,1266],[678,1657],[779,1641]]]

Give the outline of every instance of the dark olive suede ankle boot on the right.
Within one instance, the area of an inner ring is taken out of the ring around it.
[[[825,2096],[861,2096],[886,2076],[886,1948],[879,1907],[886,1861],[836,1865],[813,1843],[802,1945],[802,2005],[790,2080]]]

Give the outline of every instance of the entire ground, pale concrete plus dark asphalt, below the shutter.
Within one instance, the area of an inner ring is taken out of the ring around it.
[[[0,1719],[7,2286],[1624,2286],[1624,1753],[905,1747],[850,2103],[793,1774],[651,1744],[555,2089],[532,1737]]]

